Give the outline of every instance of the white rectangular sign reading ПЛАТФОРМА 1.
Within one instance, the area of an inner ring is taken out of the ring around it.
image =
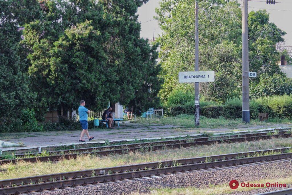
[[[214,71],[190,71],[178,73],[179,83],[202,83],[214,81],[215,81]]]

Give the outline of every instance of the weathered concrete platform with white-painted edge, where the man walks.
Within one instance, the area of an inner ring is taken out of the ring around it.
[[[257,126],[260,128],[261,126]],[[200,132],[208,130],[214,135],[221,135],[226,133],[248,133],[250,131],[268,131],[274,128],[258,129],[255,126],[250,128],[238,129],[197,129],[185,128],[174,125],[147,125],[147,124],[121,124],[121,128],[115,129],[89,129],[90,136],[95,137],[92,141],[79,142],[81,131],[49,131],[49,132],[26,132],[26,133],[3,133],[0,134],[0,139],[12,143],[22,143],[24,148],[33,148],[34,151],[41,150],[40,147],[47,146],[66,146],[79,145],[84,143],[105,143],[105,141],[134,141],[135,139],[149,139],[156,141],[161,138],[175,138],[179,136],[198,136]],[[277,129],[291,128],[290,125],[281,124]],[[84,137],[84,140],[86,137]],[[2,150],[20,149],[20,147],[12,146],[13,148],[3,148]],[[22,147],[23,148],[23,147]]]

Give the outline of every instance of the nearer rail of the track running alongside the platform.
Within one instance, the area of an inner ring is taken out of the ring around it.
[[[93,151],[93,152],[84,152],[84,153],[74,153],[74,154],[64,154],[64,155],[52,155],[52,156],[37,156],[31,158],[19,158],[19,159],[9,159],[9,160],[0,160],[0,165],[4,165],[7,163],[17,163],[18,161],[25,162],[44,162],[44,161],[57,161],[62,159],[74,159],[77,158],[78,155],[81,154],[95,154],[95,155],[111,155],[111,154],[124,154],[130,151],[151,151],[165,148],[180,148],[180,147],[190,147],[190,146],[198,146],[198,145],[208,145],[214,143],[231,143],[231,142],[241,142],[241,141],[255,141],[260,139],[270,139],[270,138],[279,138],[279,137],[291,137],[292,134],[276,134],[276,135],[261,135],[261,136],[251,136],[251,137],[239,137],[239,138],[227,138],[227,139],[215,139],[208,141],[195,141],[195,142],[186,142],[186,143],[173,143],[167,145],[155,145],[155,146],[141,146],[135,148],[122,148],[115,150],[103,150],[103,151]]]

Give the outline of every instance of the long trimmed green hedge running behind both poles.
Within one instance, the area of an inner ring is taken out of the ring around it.
[[[214,103],[214,102],[211,102]],[[229,98],[224,105],[210,105],[207,102],[200,102],[200,115],[207,118],[226,119],[241,118],[242,102],[240,98]],[[187,102],[187,105],[173,105],[166,109],[168,116],[179,114],[194,114],[193,102]],[[272,118],[292,119],[292,95],[274,95],[259,98],[250,101],[250,118],[258,119],[259,112],[267,112]]]

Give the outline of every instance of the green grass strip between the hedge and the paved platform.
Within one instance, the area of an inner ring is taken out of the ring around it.
[[[241,119],[225,119],[224,117],[220,117],[218,119],[213,118],[200,118],[200,126],[194,125],[194,116],[187,114],[180,114],[176,117],[164,117],[164,118],[155,118],[155,119],[147,119],[147,118],[137,118],[137,123],[142,124],[172,124],[176,126],[184,126],[188,128],[227,128],[227,127],[238,127],[238,126],[246,126],[250,127],[253,125],[261,125],[261,126],[269,126],[271,124],[292,124],[290,119],[279,119],[279,118],[270,118],[265,122],[260,122],[258,119],[253,119],[250,121],[250,124],[246,124],[242,122]]]

